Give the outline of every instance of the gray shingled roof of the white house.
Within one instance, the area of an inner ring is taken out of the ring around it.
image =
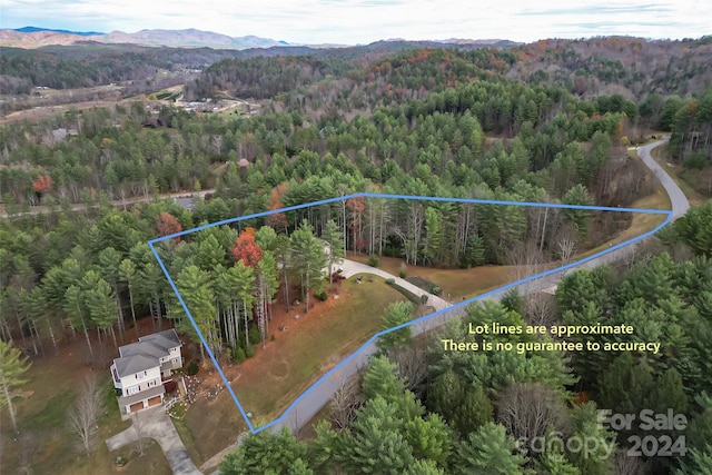
[[[119,377],[160,366],[160,358],[169,356],[170,348],[181,346],[175,329],[142,336],[137,343],[119,347],[120,358],[113,360]]]

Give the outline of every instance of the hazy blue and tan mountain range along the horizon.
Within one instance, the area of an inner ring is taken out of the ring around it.
[[[0,46],[16,48],[40,48],[50,44],[81,44],[87,41],[96,43],[129,43],[148,47],[174,47],[174,48],[214,48],[245,50],[253,48],[273,47],[298,47],[309,46],[312,48],[343,48],[348,44],[297,44],[286,41],[277,41],[269,38],[256,36],[229,37],[227,34],[215,33],[212,31],[201,31],[195,28],[187,30],[141,30],[135,33],[123,31],[111,31],[101,33],[97,31],[69,31],[55,30],[49,28],[24,27],[14,30],[0,30]],[[393,42],[407,42],[404,40],[386,40]],[[463,46],[490,46],[503,47],[515,44],[507,40],[468,40],[448,39],[433,40],[433,43],[463,44]]]

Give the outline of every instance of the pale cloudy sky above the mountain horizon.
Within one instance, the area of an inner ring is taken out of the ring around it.
[[[256,34],[298,43],[379,39],[712,34],[712,0],[1,0],[0,28]]]

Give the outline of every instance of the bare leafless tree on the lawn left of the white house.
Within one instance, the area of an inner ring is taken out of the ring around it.
[[[95,448],[97,420],[103,410],[101,388],[95,375],[87,376],[79,388],[75,407],[69,412],[69,426],[79,437],[81,449],[89,456]]]

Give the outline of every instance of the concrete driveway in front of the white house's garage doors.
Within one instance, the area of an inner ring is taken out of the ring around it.
[[[170,416],[166,414],[162,406],[156,406],[144,409],[136,414],[138,425],[140,427],[141,438],[152,438],[164,449],[168,464],[176,475],[202,475],[195,466],[186,446],[170,420]],[[136,443],[138,441],[138,432],[134,424],[126,431],[107,438],[109,451],[116,451],[125,445]]]

